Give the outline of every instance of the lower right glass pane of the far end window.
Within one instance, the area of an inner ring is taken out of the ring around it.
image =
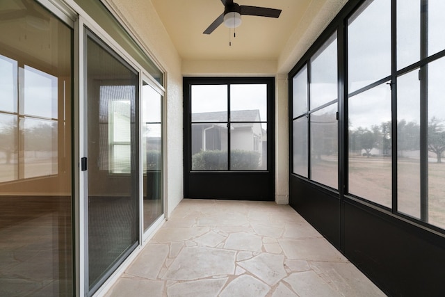
[[[267,131],[259,122],[230,127],[230,169],[266,170]]]

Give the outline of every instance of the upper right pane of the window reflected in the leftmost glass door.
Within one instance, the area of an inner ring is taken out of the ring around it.
[[[57,118],[57,78],[25,65],[24,113]]]

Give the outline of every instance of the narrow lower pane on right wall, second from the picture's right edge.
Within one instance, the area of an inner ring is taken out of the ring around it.
[[[418,70],[397,78],[397,208],[420,218],[420,83]]]

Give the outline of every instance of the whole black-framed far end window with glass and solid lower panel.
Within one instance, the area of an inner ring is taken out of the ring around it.
[[[275,199],[270,77],[184,78],[186,198]]]

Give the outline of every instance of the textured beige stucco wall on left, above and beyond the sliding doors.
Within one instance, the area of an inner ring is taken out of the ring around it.
[[[175,209],[184,197],[183,191],[183,143],[182,143],[182,74],[181,58],[150,0],[108,0],[115,13],[129,26],[130,31],[153,60],[165,71],[167,118],[167,188],[166,215]]]

